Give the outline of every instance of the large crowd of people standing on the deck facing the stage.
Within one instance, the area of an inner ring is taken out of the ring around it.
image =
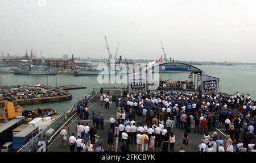
[[[109,92],[104,93],[101,89],[100,102],[106,109],[109,109],[109,97]],[[240,95],[237,92],[226,97],[221,94],[204,95],[170,91],[134,94],[123,91],[123,95],[116,99],[116,106],[117,115],[112,115],[110,118],[106,151],[114,151],[114,137],[122,141],[121,151],[131,151],[129,144],[137,145],[138,152],[155,151],[155,147],[161,147],[160,151],[167,152],[168,147],[170,151],[175,151],[174,128],[183,130],[184,133],[180,152],[186,151],[191,132],[201,135],[203,139],[199,145],[201,152],[255,152],[256,150],[255,103],[249,94]],[[80,118],[82,119],[81,114],[84,114],[86,119],[86,100],[81,101],[77,107],[84,110],[78,111]],[[99,124],[101,129],[104,128],[104,118],[93,112],[92,121],[90,127],[88,124],[77,124],[77,137],[74,135],[69,137],[71,151],[75,149],[75,145],[77,151],[78,148],[81,148],[80,151],[94,150],[95,134]],[[224,140],[217,133],[217,129],[222,128],[225,128]],[[101,148],[100,144],[99,147]]]

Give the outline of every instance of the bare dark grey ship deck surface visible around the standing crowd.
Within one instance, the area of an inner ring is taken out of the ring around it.
[[[117,112],[117,107],[115,106],[115,103],[112,103],[112,96],[113,95],[121,95],[122,94],[122,89],[118,89],[118,88],[111,88],[111,89],[104,89],[104,92],[107,92],[109,90],[110,92],[110,109],[106,110],[106,108],[103,106],[100,106],[100,93],[97,93],[88,103],[88,107],[89,107],[89,119],[91,119],[91,114],[94,111],[95,113],[99,113],[99,114],[103,114],[104,118],[105,118],[105,123],[104,123],[104,130],[97,130],[96,133],[96,147],[97,147],[97,143],[101,143],[102,147],[106,150],[106,146],[107,146],[107,141],[108,141],[108,130],[110,127],[110,116],[113,114],[114,118],[116,118],[116,112]],[[92,124],[92,120],[80,120],[80,118],[75,115],[66,125],[66,129],[68,132],[68,136],[72,134],[72,132],[75,133],[75,136],[77,136],[77,132],[76,132],[76,125],[78,122],[85,122],[85,123],[89,123]],[[136,124],[136,126],[138,127],[138,124]],[[175,147],[174,147],[174,151],[179,151],[180,147],[183,143],[183,133],[184,130],[182,129],[176,129],[174,127],[174,129],[172,129],[172,132],[174,132],[174,135],[176,137],[176,141],[175,141]],[[212,133],[210,133],[212,134]],[[224,137],[222,135],[221,132],[218,132],[219,135],[221,135],[222,137]],[[201,143],[201,139],[203,139],[203,135],[200,135],[199,133],[189,133],[189,141],[188,141],[188,145],[187,145],[187,150],[186,151],[198,151],[198,146]],[[51,152],[69,152],[69,145],[68,142],[66,142],[67,147],[66,148],[61,148],[61,138],[59,134],[56,134],[55,137],[53,137],[52,141],[49,143],[48,146],[48,151]],[[122,143],[118,141],[118,137],[114,138],[114,150],[116,152],[121,151],[120,147],[121,147]],[[96,148],[94,147],[94,149]],[[111,149],[111,148],[110,148]],[[136,145],[131,145],[129,144],[129,149],[131,152],[136,151]],[[160,149],[162,149],[162,147],[155,148],[155,151],[158,152],[160,151]],[[77,151],[77,149],[75,148],[75,151]],[[170,151],[170,146],[168,147],[168,151]]]

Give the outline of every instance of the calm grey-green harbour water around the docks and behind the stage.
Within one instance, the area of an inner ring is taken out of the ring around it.
[[[209,76],[220,78],[220,91],[228,94],[236,93],[248,93],[251,98],[256,99],[256,67],[255,66],[214,66],[214,65],[196,65],[197,68],[203,70]],[[73,103],[77,100],[84,98],[86,94],[92,91],[93,88],[99,89],[103,87],[123,87],[126,84],[99,84],[97,76],[72,76],[72,75],[56,75],[48,76],[48,85],[56,86],[60,85],[81,85],[86,86],[86,89],[70,90],[73,94],[71,101],[44,103],[39,105],[26,105],[26,109],[35,108],[55,108],[59,114],[68,110]],[[163,73],[162,78],[164,80],[187,80],[188,73]],[[24,85],[41,83],[47,84],[46,76],[32,76],[32,75],[18,75],[18,74],[3,74],[4,85]]]

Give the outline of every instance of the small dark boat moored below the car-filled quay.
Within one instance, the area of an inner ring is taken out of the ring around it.
[[[26,116],[26,118],[40,118],[44,116],[52,116],[56,115],[56,110],[52,108],[38,108],[35,110],[25,110],[23,111],[23,116]]]

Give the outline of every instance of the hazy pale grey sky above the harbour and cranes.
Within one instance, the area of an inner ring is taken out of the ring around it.
[[[256,62],[256,1],[0,1],[0,51],[24,55]]]

